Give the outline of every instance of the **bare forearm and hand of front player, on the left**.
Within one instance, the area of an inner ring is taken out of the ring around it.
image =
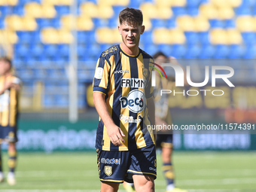
[[[111,118],[108,107],[105,102],[105,94],[100,92],[93,92],[93,103],[99,114],[99,117],[104,123],[108,137],[114,145],[122,146],[124,142],[123,137],[125,136],[119,126],[114,124],[114,120]]]

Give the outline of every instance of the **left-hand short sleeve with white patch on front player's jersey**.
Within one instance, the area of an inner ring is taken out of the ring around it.
[[[93,78],[93,92],[108,93],[110,65],[105,57],[98,59]]]

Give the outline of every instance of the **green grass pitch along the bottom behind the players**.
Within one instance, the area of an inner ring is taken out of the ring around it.
[[[7,154],[4,157],[5,173]],[[157,157],[156,191],[165,191]],[[174,152],[176,184],[190,192],[256,191],[256,153],[251,152]],[[100,191],[96,152],[20,153],[17,185],[0,184],[1,192]],[[120,185],[120,191],[123,186]]]

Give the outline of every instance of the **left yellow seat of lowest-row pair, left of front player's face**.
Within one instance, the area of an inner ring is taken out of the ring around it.
[[[97,29],[96,41],[99,44],[112,44],[114,42],[113,31],[107,27]]]

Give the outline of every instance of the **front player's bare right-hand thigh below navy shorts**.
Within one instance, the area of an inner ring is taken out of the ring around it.
[[[139,192],[154,192],[154,177],[149,175],[133,175],[134,187]]]

